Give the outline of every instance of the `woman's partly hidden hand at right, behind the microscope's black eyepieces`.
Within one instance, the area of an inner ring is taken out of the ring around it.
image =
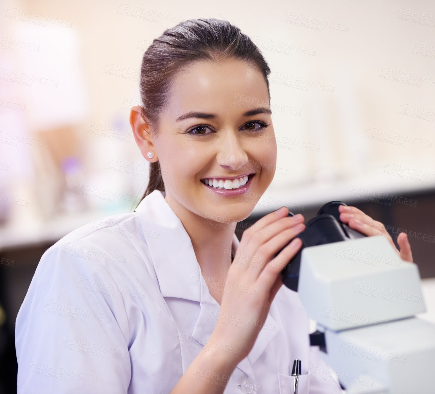
[[[397,237],[397,243],[400,247],[400,252],[396,249],[390,234],[385,230],[385,226],[376,220],[373,220],[370,216],[366,215],[364,212],[355,207],[347,207],[345,205],[340,205],[338,207],[340,211],[340,220],[343,223],[349,225],[349,227],[359,231],[362,234],[371,235],[383,235],[388,239],[391,245],[399,254],[402,260],[408,261],[410,263],[412,260],[411,245],[408,241],[408,235],[406,233],[400,233]]]

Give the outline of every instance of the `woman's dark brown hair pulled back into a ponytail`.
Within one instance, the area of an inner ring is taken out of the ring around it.
[[[141,66],[141,115],[156,133],[161,112],[167,106],[174,77],[198,60],[237,59],[258,67],[270,91],[271,70],[261,51],[240,29],[226,20],[191,19],[171,27],[153,40]],[[154,190],[164,191],[158,160],[150,163],[150,180],[141,200]]]

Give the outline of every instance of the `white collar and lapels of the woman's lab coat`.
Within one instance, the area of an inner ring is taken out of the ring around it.
[[[211,321],[217,320],[216,314],[220,311],[220,305],[208,291],[187,231],[164,199],[164,192],[160,190],[154,190],[148,194],[135,211],[141,219],[143,233],[163,297],[177,297],[200,302],[201,311],[192,336],[205,345],[214,330],[215,324],[211,324]],[[234,234],[232,248],[237,250],[238,246],[239,240]],[[198,285],[194,285],[194,282]],[[251,365],[281,330],[277,324],[278,314],[278,308],[272,303],[254,347],[248,357],[245,357],[237,366],[253,380],[254,373]],[[272,315],[275,315],[277,319],[274,319]]]

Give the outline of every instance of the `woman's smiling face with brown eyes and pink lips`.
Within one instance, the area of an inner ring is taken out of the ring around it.
[[[222,223],[244,220],[276,166],[261,72],[239,60],[191,65],[174,79],[154,148],[165,199],[176,213],[186,209]]]

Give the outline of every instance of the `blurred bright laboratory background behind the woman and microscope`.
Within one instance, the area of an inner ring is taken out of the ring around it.
[[[408,234],[435,321],[435,3],[0,3],[0,393],[16,392],[15,318],[43,252],[133,211],[148,182],[129,125],[144,51],[183,20],[240,27],[271,68],[277,171],[241,233],[331,200]]]

